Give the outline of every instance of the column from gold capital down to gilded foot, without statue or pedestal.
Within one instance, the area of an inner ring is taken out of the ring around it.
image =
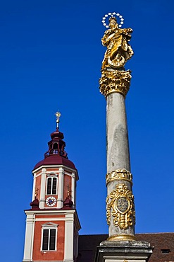
[[[130,87],[130,70],[104,69],[100,91],[106,96],[108,240],[135,240],[135,206],[132,195],[125,96]]]

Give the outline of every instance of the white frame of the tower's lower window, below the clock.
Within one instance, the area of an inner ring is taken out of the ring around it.
[[[44,239],[44,229],[49,229],[49,241],[48,241],[48,250],[43,250],[43,239]],[[49,243],[50,243],[50,229],[56,229],[56,236],[55,236],[55,249],[54,250],[49,250]],[[54,223],[46,223],[42,224],[42,239],[41,239],[41,246],[40,246],[40,251],[42,252],[55,252],[57,251],[57,234],[58,234],[58,224]]]

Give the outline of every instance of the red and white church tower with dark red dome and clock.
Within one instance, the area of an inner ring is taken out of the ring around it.
[[[51,133],[44,159],[32,171],[30,210],[25,210],[26,231],[23,262],[75,262],[80,222],[75,209],[78,173],[68,159],[66,142],[58,129]]]

